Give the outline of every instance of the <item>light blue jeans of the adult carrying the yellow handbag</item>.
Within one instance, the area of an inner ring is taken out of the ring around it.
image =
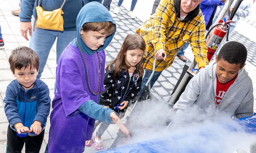
[[[33,19],[34,23],[34,19]],[[32,24],[33,25],[33,24]],[[40,68],[37,78],[40,79],[44,66],[46,64],[48,55],[51,48],[57,38],[56,47],[56,63],[59,60],[59,56],[63,50],[68,46],[70,41],[76,37],[76,31],[54,31],[54,30],[44,30],[35,27],[35,31],[32,31],[32,36],[30,38],[29,47],[33,49],[39,56]]]

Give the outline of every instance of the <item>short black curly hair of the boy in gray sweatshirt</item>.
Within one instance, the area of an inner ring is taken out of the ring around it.
[[[244,65],[246,57],[247,49],[237,41],[229,41],[218,53],[218,61],[223,59],[230,64],[240,64],[241,67]]]

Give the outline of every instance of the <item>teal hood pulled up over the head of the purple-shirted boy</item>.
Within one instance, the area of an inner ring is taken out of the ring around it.
[[[115,30],[114,30],[113,34],[106,37],[106,40],[105,40],[103,46],[99,47],[95,51],[92,51],[84,43],[84,41],[83,41],[83,39],[80,35],[80,31],[81,31],[84,23],[88,23],[88,22],[107,22],[107,21],[110,21],[114,24]],[[77,18],[76,18],[76,37],[77,37],[77,41],[78,41],[82,51],[84,51],[84,49],[90,50],[90,52],[93,54],[97,51],[101,51],[101,50],[105,49],[110,44],[112,38],[115,35],[115,32],[116,32],[116,24],[115,24],[115,21],[114,21],[113,17],[109,13],[109,11],[102,4],[100,4],[99,2],[87,3],[86,5],[84,5],[84,7],[82,7],[79,14],[77,15]]]

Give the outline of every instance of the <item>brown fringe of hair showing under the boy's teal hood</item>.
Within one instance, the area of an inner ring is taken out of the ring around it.
[[[115,25],[111,21],[107,22],[87,22],[83,25],[83,31],[102,31],[102,35],[111,35],[115,31]]]

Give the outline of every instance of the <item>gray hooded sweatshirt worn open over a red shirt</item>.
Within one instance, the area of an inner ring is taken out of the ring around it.
[[[216,65],[206,66],[193,77],[180,99],[173,106],[173,111],[180,114],[186,108],[197,105],[201,109],[214,112],[225,112],[228,116],[242,118],[253,115],[253,85],[245,69],[238,72],[238,77],[228,88],[222,101],[217,105],[216,97]]]

